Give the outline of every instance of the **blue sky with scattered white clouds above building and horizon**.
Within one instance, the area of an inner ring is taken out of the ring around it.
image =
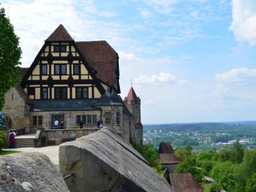
[[[133,87],[143,124],[256,120],[255,0],[0,2],[21,67],[59,24],[75,41],[106,40],[119,55],[121,97]]]

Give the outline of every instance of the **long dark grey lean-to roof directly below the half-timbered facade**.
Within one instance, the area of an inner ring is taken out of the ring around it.
[[[38,111],[80,111],[80,110],[100,110],[93,105],[97,99],[47,99],[34,100],[30,108],[32,112]]]

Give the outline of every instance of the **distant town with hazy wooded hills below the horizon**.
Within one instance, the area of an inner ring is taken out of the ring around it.
[[[174,149],[190,145],[193,152],[220,151],[229,148],[236,140],[246,148],[256,149],[256,123],[193,123],[162,124],[143,127],[143,143],[171,142]]]

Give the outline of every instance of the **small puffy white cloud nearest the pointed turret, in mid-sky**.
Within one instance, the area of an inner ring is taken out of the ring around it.
[[[134,80],[137,84],[155,84],[155,83],[169,83],[175,82],[175,75],[169,73],[160,73],[158,76],[152,74],[151,77],[142,75]]]

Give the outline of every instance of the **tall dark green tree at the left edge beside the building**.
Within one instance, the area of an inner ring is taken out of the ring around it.
[[[0,9],[0,110],[4,107],[4,94],[20,82],[21,64],[19,38],[15,35],[4,8]]]

